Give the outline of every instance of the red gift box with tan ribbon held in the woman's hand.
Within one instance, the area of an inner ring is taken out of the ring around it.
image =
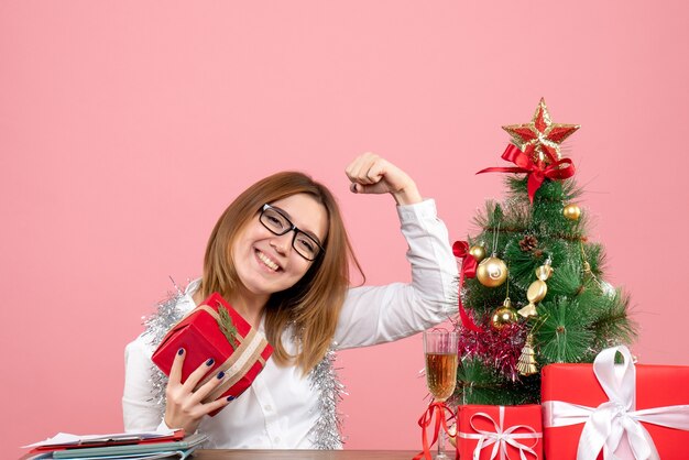
[[[220,326],[221,316],[225,315],[222,309],[229,314],[236,329],[232,340],[223,333]],[[165,335],[151,359],[165,375],[169,375],[172,363],[181,348],[184,348],[186,353],[182,366],[182,382],[209,358],[212,358],[215,363],[208,368],[197,387],[215,379],[220,371],[225,371],[222,383],[206,396],[204,403],[228,396],[238,397],[251,385],[273,353],[273,347],[269,344],[263,333],[251,327],[217,293],[212,293],[175,325]],[[220,410],[210,415],[218,412]]]

